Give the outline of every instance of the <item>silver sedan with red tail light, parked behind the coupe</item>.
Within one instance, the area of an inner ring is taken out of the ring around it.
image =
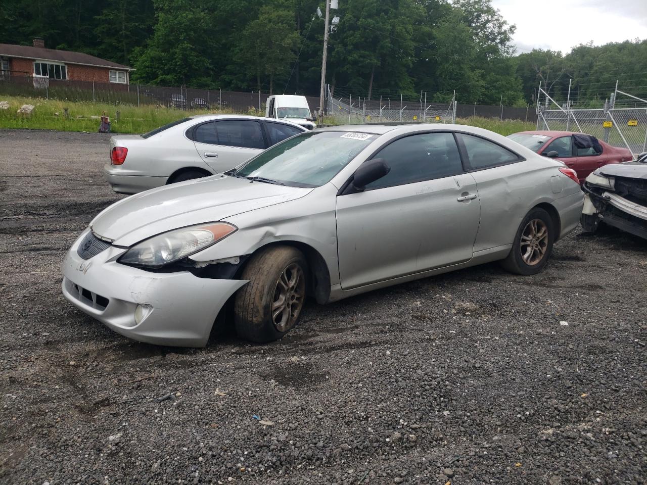
[[[110,138],[104,175],[115,192],[133,194],[221,173],[303,131],[296,123],[259,116],[189,116],[144,135]]]

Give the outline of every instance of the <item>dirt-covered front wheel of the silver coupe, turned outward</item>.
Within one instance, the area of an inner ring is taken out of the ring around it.
[[[298,323],[305,304],[308,265],[291,246],[274,246],[252,256],[237,292],[234,325],[240,338],[265,343],[282,338]]]

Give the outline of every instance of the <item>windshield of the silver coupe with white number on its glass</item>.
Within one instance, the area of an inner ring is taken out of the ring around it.
[[[265,150],[227,175],[293,187],[319,187],[337,175],[377,136],[347,131],[301,133]]]

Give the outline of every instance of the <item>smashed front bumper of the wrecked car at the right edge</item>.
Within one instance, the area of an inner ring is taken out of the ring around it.
[[[589,232],[600,221],[622,231],[647,239],[647,207],[602,188],[584,185],[582,227]]]

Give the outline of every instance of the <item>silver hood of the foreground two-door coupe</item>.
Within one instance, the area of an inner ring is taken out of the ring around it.
[[[131,195],[100,212],[90,226],[116,246],[131,246],[162,232],[298,199],[311,190],[214,175]]]

